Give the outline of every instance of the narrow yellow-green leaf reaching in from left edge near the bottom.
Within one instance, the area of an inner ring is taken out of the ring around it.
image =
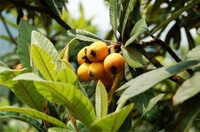
[[[37,119],[41,119],[43,121],[47,121],[47,122],[52,123],[54,125],[57,125],[57,126],[60,126],[60,127],[63,127],[63,128],[67,128],[67,126],[63,122],[57,120],[54,117],[48,116],[45,113],[34,110],[34,109],[5,106],[5,107],[0,107],[0,111],[3,111],[3,112],[18,112],[20,114],[25,114],[25,115],[28,115],[28,116],[31,116],[31,117],[34,117],[34,118],[37,118]]]

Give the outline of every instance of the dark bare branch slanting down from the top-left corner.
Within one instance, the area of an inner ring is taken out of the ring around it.
[[[65,23],[65,21],[63,21],[59,16],[57,16],[50,8],[30,6],[30,5],[25,4],[24,2],[20,2],[16,0],[8,0],[8,1],[12,3],[14,6],[18,6],[27,10],[37,11],[40,13],[45,13],[51,16],[54,20],[56,20],[57,23],[59,23],[66,30],[71,29],[71,27],[67,23]]]

